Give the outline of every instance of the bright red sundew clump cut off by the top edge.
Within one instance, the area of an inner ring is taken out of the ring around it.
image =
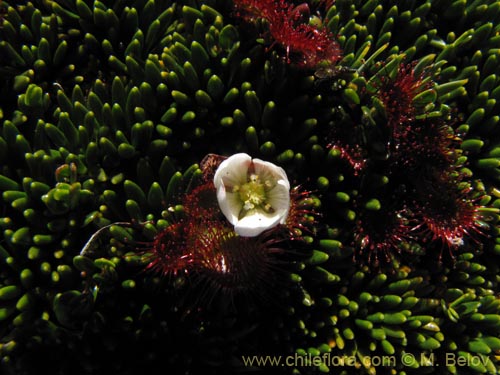
[[[315,68],[321,62],[334,65],[342,57],[331,32],[304,22],[304,14],[309,12],[305,3],[296,7],[285,0],[236,0],[234,4],[236,15],[244,20],[267,22],[272,44],[285,50],[287,62]]]

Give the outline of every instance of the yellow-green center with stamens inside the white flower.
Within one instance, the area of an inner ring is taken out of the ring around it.
[[[248,182],[233,187],[233,192],[238,193],[243,202],[244,215],[247,211],[262,208],[266,212],[274,212],[271,204],[267,202],[267,192],[274,187],[270,180],[262,181],[257,174],[250,174]]]

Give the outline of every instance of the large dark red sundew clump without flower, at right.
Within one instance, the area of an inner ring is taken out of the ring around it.
[[[370,149],[356,132],[333,128],[328,145],[359,182],[352,246],[355,260],[379,266],[416,244],[427,252],[454,250],[486,235],[491,209],[482,207],[460,162],[460,134],[453,114],[431,113],[435,82],[416,62],[381,69],[364,94],[380,109],[379,149]],[[365,98],[363,98],[364,100]],[[383,177],[380,177],[383,176]],[[368,180],[379,180],[367,184]],[[363,182],[364,181],[364,182]],[[376,198],[365,197],[370,194]]]

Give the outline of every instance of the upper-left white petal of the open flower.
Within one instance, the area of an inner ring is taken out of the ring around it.
[[[251,161],[250,155],[245,153],[228,157],[220,163],[219,168],[215,171],[215,188],[218,190],[222,185],[235,186],[247,182],[247,172]]]

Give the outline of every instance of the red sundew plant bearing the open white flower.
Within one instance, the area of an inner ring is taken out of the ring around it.
[[[297,255],[297,242],[311,241],[319,200],[301,186],[290,188],[283,168],[248,154],[211,154],[200,167],[202,178],[180,198],[182,213],[172,215],[152,241],[129,236],[124,245],[136,247],[145,275],[188,279],[197,288],[197,304],[220,294],[229,301],[240,294],[270,301],[273,286],[285,283],[286,255]],[[111,228],[144,224],[106,225],[80,255],[93,256]]]

